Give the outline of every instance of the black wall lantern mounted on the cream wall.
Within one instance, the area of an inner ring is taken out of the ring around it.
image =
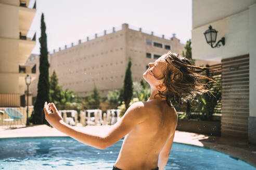
[[[206,41],[209,45],[211,45],[212,48],[219,48],[222,45],[225,45],[225,37],[222,37],[219,41],[217,41],[217,44],[215,46],[213,46],[213,44],[216,42],[216,38],[217,38],[217,31],[212,29],[212,26],[209,26],[209,29],[206,30],[206,32],[203,33],[204,36],[206,37]]]

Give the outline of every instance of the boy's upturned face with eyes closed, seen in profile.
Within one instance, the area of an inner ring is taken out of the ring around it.
[[[150,84],[158,89],[159,84],[163,83],[163,79],[158,80],[157,78],[163,77],[163,71],[167,67],[165,57],[167,54],[163,54],[154,63],[148,63],[148,69],[143,74],[143,78]]]

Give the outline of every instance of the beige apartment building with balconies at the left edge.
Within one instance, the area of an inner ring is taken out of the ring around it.
[[[35,46],[29,31],[35,11],[30,0],[0,0],[0,106],[20,106],[25,76],[35,78],[33,66],[25,65]]]

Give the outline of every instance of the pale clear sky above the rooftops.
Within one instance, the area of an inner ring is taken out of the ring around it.
[[[31,3],[33,4],[33,0]],[[191,0],[37,0],[30,30],[36,31],[32,53],[40,54],[40,21],[45,16],[48,51],[58,49],[87,36],[127,23],[172,37],[182,43],[191,38]]]

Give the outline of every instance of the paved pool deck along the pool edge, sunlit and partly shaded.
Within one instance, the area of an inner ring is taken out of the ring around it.
[[[111,125],[104,126],[73,126],[81,132],[92,134],[105,134]],[[0,140],[16,137],[42,137],[42,136],[67,136],[47,125],[34,125],[18,127],[15,129],[1,128]],[[248,141],[237,137],[207,136],[196,133],[176,131],[174,142],[205,147],[231,155],[234,159],[240,159],[256,167],[256,145],[248,144]]]

